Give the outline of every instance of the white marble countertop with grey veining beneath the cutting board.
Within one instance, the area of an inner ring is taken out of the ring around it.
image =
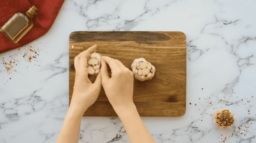
[[[0,143],[56,141],[68,110],[73,31],[184,32],[186,113],[142,117],[149,132],[157,143],[256,142],[255,5],[255,0],[66,0],[44,36],[0,54]],[[29,49],[39,54],[31,62],[28,57],[36,54]],[[228,131],[211,117],[223,108],[237,117]],[[87,142],[129,139],[118,117],[83,117],[79,143]]]

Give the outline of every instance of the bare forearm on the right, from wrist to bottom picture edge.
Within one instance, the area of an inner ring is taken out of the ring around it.
[[[156,143],[134,104],[122,109],[116,108],[115,111],[123,122],[131,143]]]

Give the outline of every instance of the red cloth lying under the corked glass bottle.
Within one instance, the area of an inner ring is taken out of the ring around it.
[[[24,12],[35,5],[38,9],[33,27],[18,43],[12,43],[0,32],[0,53],[21,47],[43,36],[52,26],[64,0],[0,0],[0,27],[17,12]]]

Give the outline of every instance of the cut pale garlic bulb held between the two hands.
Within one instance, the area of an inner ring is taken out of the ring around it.
[[[93,52],[87,63],[89,64],[87,68],[88,74],[97,75],[101,68],[101,55],[99,53]]]

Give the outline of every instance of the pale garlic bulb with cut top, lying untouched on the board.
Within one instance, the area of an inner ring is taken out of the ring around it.
[[[131,68],[135,79],[140,81],[152,79],[156,72],[156,68],[144,58],[133,60]]]

